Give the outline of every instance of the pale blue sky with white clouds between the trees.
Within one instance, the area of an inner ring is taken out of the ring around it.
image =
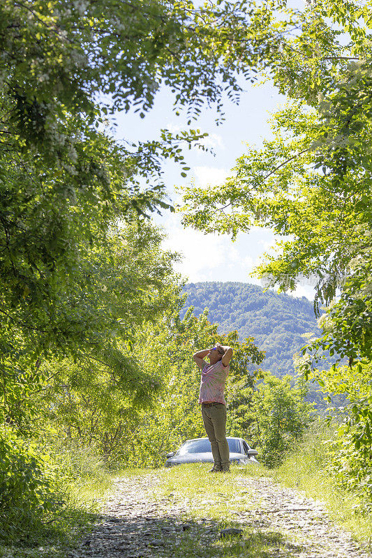
[[[239,105],[225,102],[225,122],[216,126],[216,113],[204,107],[200,119],[190,128],[199,128],[209,133],[206,144],[214,149],[215,156],[199,150],[185,151],[186,163],[191,167],[186,179],[181,177],[181,169],[174,163],[165,165],[165,182],[170,198],[177,201],[174,186],[189,185],[195,181],[198,186],[221,183],[229,176],[237,157],[246,151],[248,144],[260,146],[263,139],[271,137],[269,117],[285,103],[285,98],[269,84],[244,84]],[[170,128],[178,131],[187,129],[186,116],[176,116],[172,112],[172,95],[166,89],[159,91],[156,103],[144,119],[133,113],[117,115],[116,137],[119,140],[149,140],[158,137],[158,130]],[[177,271],[190,282],[198,281],[242,281],[260,285],[260,280],[249,273],[260,262],[264,252],[274,245],[275,237],[269,229],[254,227],[249,234],[240,234],[235,242],[227,235],[202,234],[193,229],[184,229],[181,216],[164,213],[155,218],[168,238],[164,248],[183,255]],[[309,285],[299,285],[292,296],[306,296],[313,299],[313,289]]]

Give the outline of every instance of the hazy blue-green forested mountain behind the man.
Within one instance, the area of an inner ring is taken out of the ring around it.
[[[262,368],[275,375],[293,373],[292,356],[306,344],[303,333],[316,333],[313,304],[304,296],[296,299],[242,282],[198,282],[184,287],[186,308],[195,315],[209,308],[209,320],[218,331],[237,329],[242,338],[252,335],[255,344],[266,351]]]

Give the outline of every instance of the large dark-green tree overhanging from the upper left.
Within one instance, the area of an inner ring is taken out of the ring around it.
[[[64,289],[84,289],[91,277],[84,250],[105,245],[118,220],[168,208],[161,160],[185,172],[181,146],[202,137],[162,130],[159,140],[114,142],[105,116],[144,116],[161,85],[190,121],[203,103],[222,116],[223,93],[240,91],[237,72],[254,79],[251,66],[275,40],[262,10],[251,1],[1,3],[0,312],[3,338],[29,338],[34,362],[84,342],[79,312],[60,311]]]

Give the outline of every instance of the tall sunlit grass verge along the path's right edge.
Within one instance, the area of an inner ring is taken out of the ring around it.
[[[371,513],[362,513],[359,498],[336,488],[331,476],[327,474],[326,445],[322,442],[331,439],[332,435],[330,428],[315,424],[304,442],[288,456],[283,465],[267,474],[274,481],[323,502],[332,520],[350,531],[357,541],[368,543],[371,547]]]

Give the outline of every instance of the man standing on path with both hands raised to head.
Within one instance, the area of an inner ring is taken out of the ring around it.
[[[226,377],[230,370],[232,348],[216,345],[193,355],[195,363],[202,370],[199,403],[202,418],[214,460],[210,473],[230,471],[230,453],[226,439],[226,402],[223,396]],[[209,359],[209,364],[204,361]]]

